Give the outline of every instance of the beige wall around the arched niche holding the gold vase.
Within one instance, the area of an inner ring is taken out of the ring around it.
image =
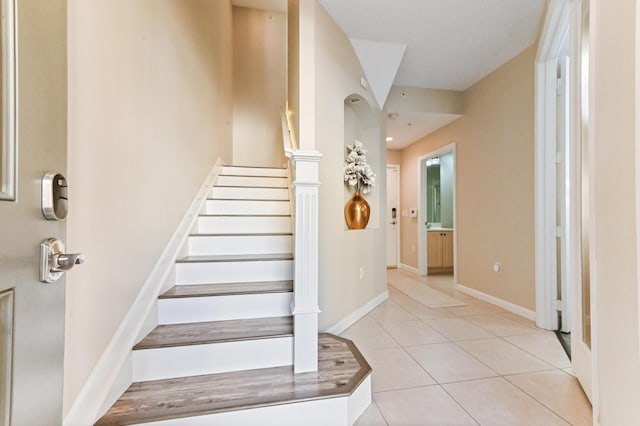
[[[366,130],[368,159],[378,176],[372,209],[386,203],[383,115],[373,94],[360,86],[362,69],[351,43],[315,1],[315,148],[320,163],[320,329],[326,329],[386,290],[385,227],[372,218],[366,230],[345,230],[343,162],[344,99],[357,93],[371,106]],[[304,101],[304,99],[302,99]],[[362,104],[362,103],[361,103]],[[346,114],[349,116],[349,114]],[[366,120],[364,120],[366,121]],[[374,126],[374,127],[371,127]],[[375,134],[375,135],[374,135]],[[353,141],[348,141],[348,144]],[[364,278],[360,279],[360,268]]]

